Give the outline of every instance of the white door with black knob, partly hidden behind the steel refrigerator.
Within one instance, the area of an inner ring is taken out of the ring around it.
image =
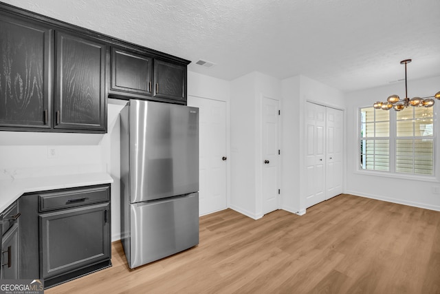
[[[226,103],[188,96],[199,107],[199,214],[226,209]]]

